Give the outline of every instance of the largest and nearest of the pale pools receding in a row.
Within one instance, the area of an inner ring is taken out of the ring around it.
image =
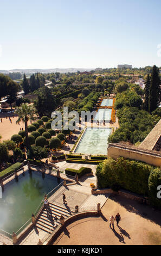
[[[107,155],[107,139],[111,135],[111,128],[88,128],[75,149],[75,153]]]

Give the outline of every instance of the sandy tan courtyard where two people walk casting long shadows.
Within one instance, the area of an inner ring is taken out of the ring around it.
[[[69,224],[54,245],[161,245],[160,211],[120,196],[110,197],[101,211]],[[121,221],[113,230],[109,220],[117,212]]]

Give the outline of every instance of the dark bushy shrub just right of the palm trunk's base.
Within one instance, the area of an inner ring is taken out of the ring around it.
[[[48,151],[46,148],[32,146],[27,153],[29,159],[41,160],[48,157]]]

